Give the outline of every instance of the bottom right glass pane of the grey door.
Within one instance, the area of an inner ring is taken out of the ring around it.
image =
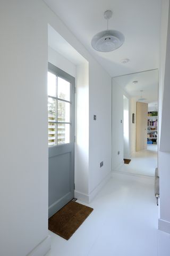
[[[57,124],[57,145],[70,143],[70,124]]]

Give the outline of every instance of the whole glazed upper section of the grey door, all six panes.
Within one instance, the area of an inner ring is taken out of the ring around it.
[[[48,71],[48,146],[70,143],[71,86],[57,73]]]

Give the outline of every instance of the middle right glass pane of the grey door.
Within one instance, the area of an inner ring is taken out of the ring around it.
[[[70,103],[58,100],[58,122],[70,123]]]

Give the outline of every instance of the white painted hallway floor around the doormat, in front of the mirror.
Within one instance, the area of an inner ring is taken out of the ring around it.
[[[145,166],[148,155],[144,156],[145,153],[138,157]],[[135,170],[139,172],[140,161],[135,162]],[[154,178],[114,173],[89,206],[94,211],[69,241],[49,231],[52,249],[47,256],[157,255]]]

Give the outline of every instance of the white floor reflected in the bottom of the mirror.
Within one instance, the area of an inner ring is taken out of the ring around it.
[[[131,162],[124,164],[120,172],[154,177],[157,167],[157,145],[148,145],[147,150],[132,155]]]

